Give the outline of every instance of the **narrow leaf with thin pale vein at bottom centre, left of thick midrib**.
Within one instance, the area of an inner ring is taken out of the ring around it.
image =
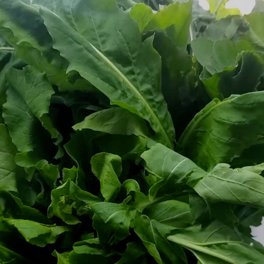
[[[136,234],[157,263],[187,263],[182,248],[174,248],[165,238],[163,232],[169,233],[172,229],[166,225],[157,225],[155,220],[139,213],[134,219]]]

